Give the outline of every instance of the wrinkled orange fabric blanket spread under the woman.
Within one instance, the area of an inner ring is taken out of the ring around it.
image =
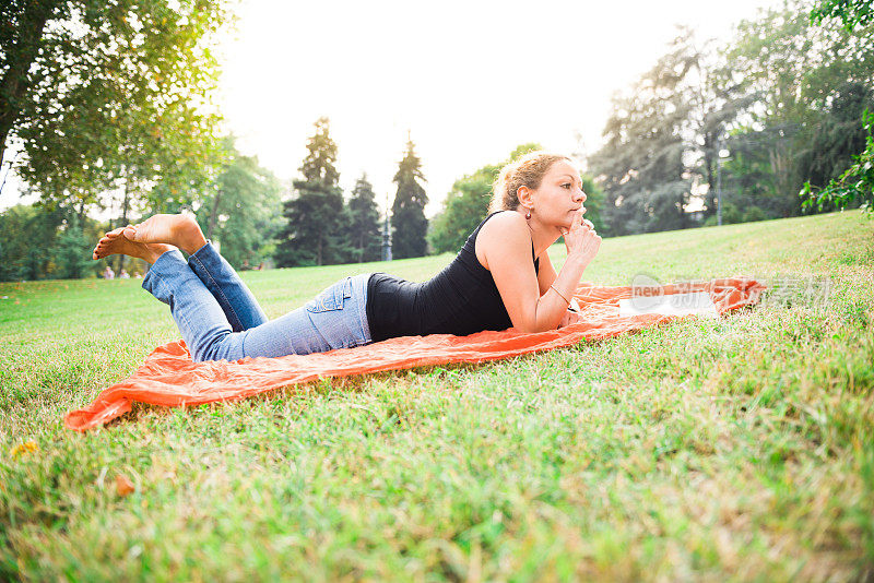
[[[755,279],[732,277],[668,284],[659,294],[708,291],[717,311],[724,314],[755,304],[764,289]],[[582,322],[531,334],[510,329],[470,336],[408,336],[329,353],[244,358],[234,362],[193,362],[182,341],[172,342],[157,347],[133,376],[103,391],[90,406],[68,413],[64,425],[78,431],[105,425],[129,412],[134,401],[170,407],[235,401],[319,378],[509,358],[571,346],[583,340],[607,338],[676,318],[619,316],[619,300],[630,299],[631,293],[629,286],[582,285],[575,294]]]

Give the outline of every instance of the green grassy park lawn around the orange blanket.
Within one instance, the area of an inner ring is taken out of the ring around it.
[[[245,279],[274,317],[353,272],[450,259]],[[506,361],[135,406],[84,435],[63,414],[176,340],[168,310],[137,281],[0,284],[0,579],[873,578],[874,221],[607,239],[584,279],[639,273],[777,291]]]

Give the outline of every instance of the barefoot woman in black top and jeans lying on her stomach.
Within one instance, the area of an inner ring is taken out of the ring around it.
[[[566,156],[531,153],[507,165],[491,214],[434,278],[383,273],[335,283],[303,308],[268,320],[249,288],[187,215],[155,215],[107,233],[94,259],[123,253],[152,264],[143,288],[169,305],[196,361],[350,348],[397,336],[553,330],[576,321],[569,300],[601,245],[582,218],[580,174]],[[556,274],[546,250],[565,237]],[[188,261],[181,254],[187,253]]]

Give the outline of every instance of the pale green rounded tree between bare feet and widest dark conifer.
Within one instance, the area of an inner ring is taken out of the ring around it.
[[[225,140],[224,167],[215,189],[198,209],[198,222],[208,239],[217,240],[222,255],[236,269],[258,265],[269,254],[282,224],[280,181],[258,158],[244,156]]]

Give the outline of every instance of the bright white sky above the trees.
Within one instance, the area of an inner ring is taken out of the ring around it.
[[[433,216],[457,178],[520,143],[572,153],[580,135],[595,151],[611,95],[665,52],[675,24],[727,38],[779,3],[243,0],[216,103],[238,147],[283,179],[328,116],[341,186],[366,171],[380,205],[409,130]],[[13,202],[10,182],[0,206]]]

